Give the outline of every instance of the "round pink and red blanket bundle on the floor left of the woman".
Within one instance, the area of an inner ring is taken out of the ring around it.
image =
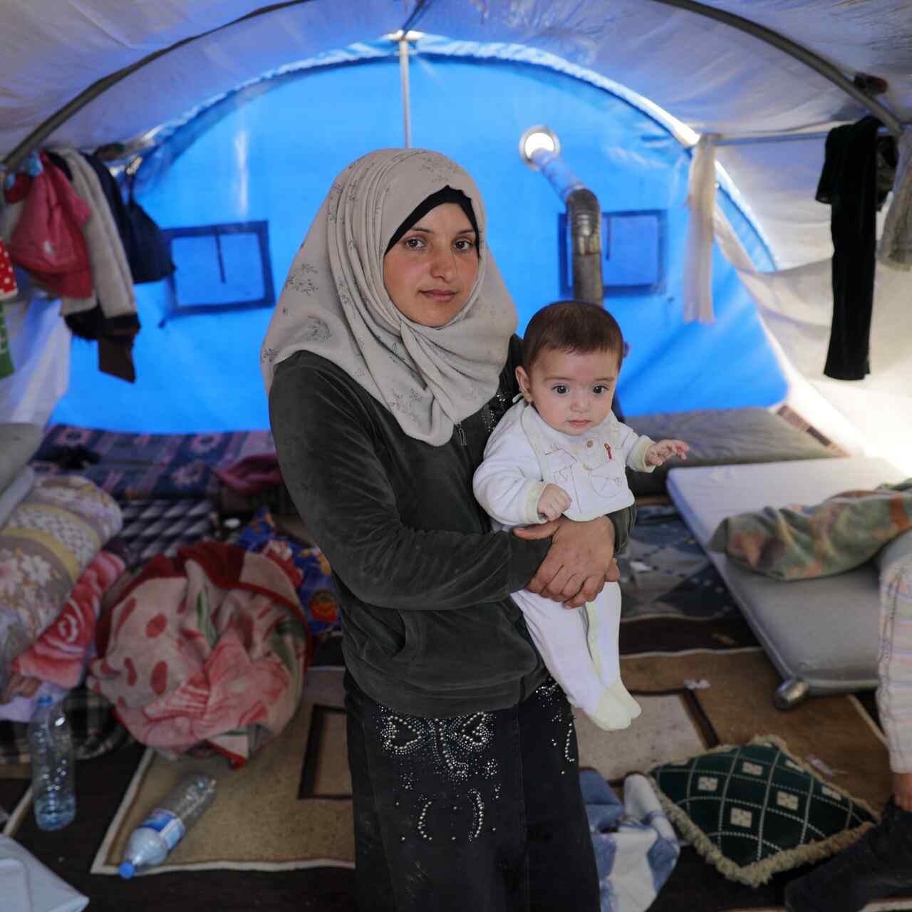
[[[202,542],[159,555],[98,622],[88,686],[166,756],[206,744],[236,766],[297,708],[309,641],[281,549]]]

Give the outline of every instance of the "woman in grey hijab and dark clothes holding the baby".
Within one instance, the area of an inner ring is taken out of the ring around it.
[[[509,594],[578,607],[628,509],[490,531],[472,474],[517,392],[481,194],[380,150],[334,181],[262,364],[285,484],[333,568],[364,910],[599,907],[573,716]]]

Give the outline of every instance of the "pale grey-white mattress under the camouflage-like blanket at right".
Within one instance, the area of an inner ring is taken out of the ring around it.
[[[673,469],[668,494],[705,547],[728,516],[819,503],[903,477],[889,462],[866,457],[707,466]],[[710,552],[710,558],[783,678],[805,680],[812,693],[876,687],[879,598],[873,562],[785,583],[734,565],[725,554]]]

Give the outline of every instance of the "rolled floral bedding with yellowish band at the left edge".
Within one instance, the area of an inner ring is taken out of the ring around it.
[[[117,502],[79,475],[39,479],[0,527],[0,668],[63,610],[121,526]]]

